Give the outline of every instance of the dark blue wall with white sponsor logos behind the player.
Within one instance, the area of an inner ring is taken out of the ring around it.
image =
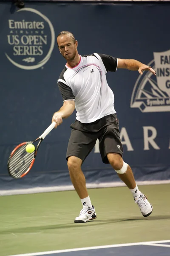
[[[70,184],[65,153],[75,113],[45,138],[24,179],[12,180],[6,168],[15,145],[38,137],[62,105],[57,79],[65,59],[56,44],[62,30],[74,33],[79,54],[134,58],[156,69],[157,77],[129,70],[107,77],[126,143],[124,160],[138,180],[170,179],[170,4],[26,3],[25,8],[0,3],[1,189]],[[82,166],[87,182],[118,180],[95,151]]]

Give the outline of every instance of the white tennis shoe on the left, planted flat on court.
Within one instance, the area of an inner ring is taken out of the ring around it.
[[[90,208],[88,205],[86,205],[80,211],[79,216],[75,218],[74,223],[85,223],[95,218],[97,218],[97,216],[94,206],[92,205],[92,208]]]

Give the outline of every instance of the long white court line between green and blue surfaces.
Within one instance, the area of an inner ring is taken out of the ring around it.
[[[130,244],[111,244],[111,245],[82,247],[82,248],[74,248],[74,249],[66,249],[66,250],[54,250],[54,251],[47,251],[47,252],[40,252],[40,253],[15,254],[15,255],[8,255],[8,256],[38,256],[38,255],[47,255],[52,253],[68,253],[68,252],[76,252],[81,250],[95,250],[95,249],[125,247],[125,246],[134,246],[134,245],[152,245],[152,244],[158,244],[158,243],[170,243],[170,240],[149,241],[149,242],[139,242],[139,243],[130,243]]]

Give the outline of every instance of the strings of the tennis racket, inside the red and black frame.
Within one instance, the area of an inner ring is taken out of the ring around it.
[[[20,148],[17,148],[9,160],[8,168],[11,176],[13,177],[17,178],[25,173],[34,159],[34,152],[27,153],[26,145],[27,144],[24,144]]]

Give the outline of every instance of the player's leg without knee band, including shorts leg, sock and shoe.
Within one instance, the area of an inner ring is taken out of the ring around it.
[[[68,160],[71,182],[81,199],[83,207],[79,216],[75,218],[75,223],[84,223],[96,218],[95,208],[91,204],[86,188],[85,175],[81,169],[83,161],[94,148],[95,143],[96,138],[93,135],[72,129],[66,159]]]

